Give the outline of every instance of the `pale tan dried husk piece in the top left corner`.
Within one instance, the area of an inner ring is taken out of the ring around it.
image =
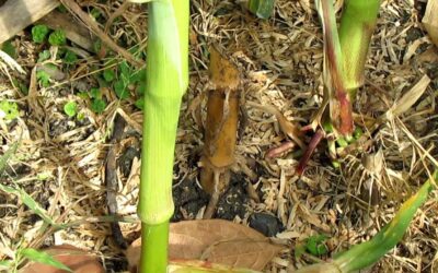
[[[38,21],[56,7],[58,0],[9,0],[0,8],[0,44]]]

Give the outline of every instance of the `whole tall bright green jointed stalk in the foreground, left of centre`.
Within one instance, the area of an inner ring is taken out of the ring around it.
[[[138,0],[136,2],[139,2]],[[140,1],[145,2],[145,1]],[[188,84],[188,0],[149,2],[141,182],[140,272],[166,272],[173,158],[181,99]]]

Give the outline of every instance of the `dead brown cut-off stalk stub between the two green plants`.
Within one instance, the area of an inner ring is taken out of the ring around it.
[[[200,183],[210,194],[204,218],[211,218],[221,192],[230,181],[234,163],[239,120],[238,69],[216,49],[210,49],[210,81],[215,90],[208,94],[205,146],[201,158]]]

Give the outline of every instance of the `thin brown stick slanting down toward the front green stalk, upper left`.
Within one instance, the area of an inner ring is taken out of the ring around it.
[[[90,15],[87,12],[82,11],[81,7],[79,7],[78,3],[76,3],[73,0],[60,1],[68,10],[70,10],[71,13],[77,15],[87,26],[89,26],[91,31],[99,38],[101,38],[107,47],[122,55],[122,57],[124,57],[128,62],[136,66],[137,68],[141,68],[145,66],[143,61],[136,60],[128,50],[119,47],[116,43],[114,43],[114,40],[99,27],[99,25],[90,17]]]

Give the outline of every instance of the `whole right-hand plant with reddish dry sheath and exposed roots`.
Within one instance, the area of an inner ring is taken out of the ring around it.
[[[348,145],[353,136],[357,136],[354,135],[353,103],[358,88],[364,85],[365,62],[380,0],[346,0],[339,28],[333,5],[333,0],[316,0],[324,36],[324,103],[309,126],[316,133],[297,167],[299,175],[327,134],[342,145]],[[335,142],[330,141],[328,147],[331,156],[336,157]]]

